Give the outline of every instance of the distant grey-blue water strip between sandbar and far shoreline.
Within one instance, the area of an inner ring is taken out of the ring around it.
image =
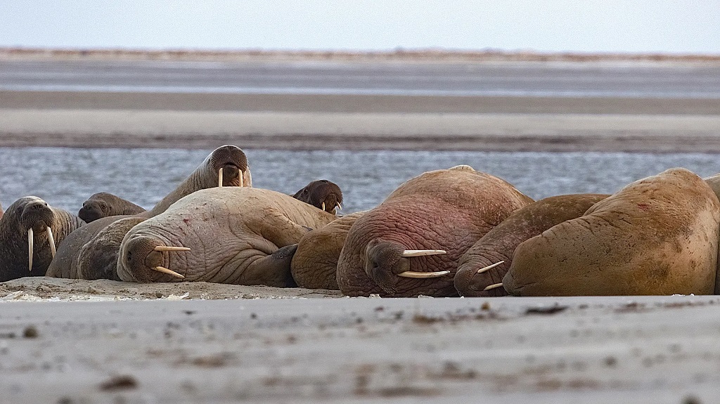
[[[682,63],[0,60],[0,90],[720,98],[720,67]]]

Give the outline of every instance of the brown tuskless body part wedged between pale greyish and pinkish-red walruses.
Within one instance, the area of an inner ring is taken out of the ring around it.
[[[339,290],[338,258],[350,227],[365,212],[342,216],[305,234],[297,244],[290,271],[300,288]]]

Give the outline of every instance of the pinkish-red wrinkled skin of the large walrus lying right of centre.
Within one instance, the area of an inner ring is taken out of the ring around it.
[[[456,296],[453,277],[459,257],[531,202],[500,178],[469,166],[424,173],[357,219],[338,259],[338,286],[351,296]],[[441,249],[447,254],[401,257],[406,249]],[[397,276],[406,270],[449,274],[432,279]]]

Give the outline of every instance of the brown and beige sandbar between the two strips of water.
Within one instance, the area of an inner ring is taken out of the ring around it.
[[[720,152],[720,99],[0,91],[0,147]]]

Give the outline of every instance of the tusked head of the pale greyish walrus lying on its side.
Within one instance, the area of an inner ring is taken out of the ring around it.
[[[184,275],[166,267],[166,253],[189,251],[187,247],[166,246],[159,239],[135,236],[127,239],[120,248],[117,265],[123,265],[127,272],[140,283],[154,282],[157,272],[184,279]]]

